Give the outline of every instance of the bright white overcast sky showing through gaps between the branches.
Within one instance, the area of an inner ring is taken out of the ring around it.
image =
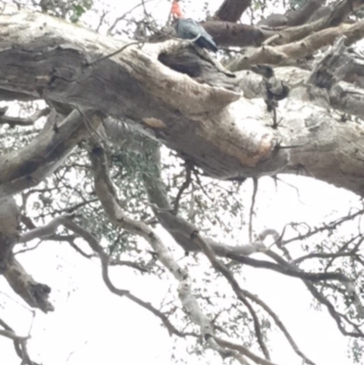
[[[133,0],[104,1],[115,6],[116,16],[137,3]],[[213,11],[221,2],[210,0],[208,4]],[[185,7],[185,13],[198,18],[202,2],[192,3]],[[156,5],[154,11],[167,19],[170,3],[156,0],[153,4]],[[282,178],[299,188],[303,204],[298,201],[294,188],[279,184],[276,191],[270,178],[262,178],[257,201],[257,231],[266,227],[280,230],[290,221],[319,222],[332,210],[344,215],[350,207],[359,206],[359,199],[343,189],[309,178]],[[170,243],[171,238],[166,233],[160,230],[159,233]],[[170,349],[174,339],[145,309],[108,292],[97,261],[88,261],[77,255],[73,248],[55,242],[43,243],[35,251],[20,256],[19,260],[36,280],[52,288],[51,299],[56,307],[54,313],[47,315],[36,312],[32,340],[29,341],[29,351],[35,360],[44,365],[171,363]],[[157,279],[131,276],[128,269],[112,269],[111,273],[116,286],[132,289],[136,296],[156,302],[174,284],[173,280],[160,283]],[[276,310],[309,358],[318,365],[351,365],[347,340],[342,338],[326,310],[318,312],[309,308],[310,296],[299,280],[250,268],[244,269],[244,274],[247,278],[244,288],[258,294]],[[0,277],[0,318],[21,335],[28,333],[32,322],[32,314],[24,306]],[[178,341],[178,345],[179,352],[183,353],[183,340]],[[273,338],[270,347],[274,349],[273,360],[279,364],[301,365],[280,335]],[[19,362],[11,341],[0,337],[0,363],[18,365]],[[207,359],[192,358],[187,362],[202,365],[207,364]],[[221,364],[221,360],[210,357],[208,363]]]

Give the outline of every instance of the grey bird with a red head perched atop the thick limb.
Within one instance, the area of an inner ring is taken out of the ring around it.
[[[178,3],[179,0],[174,0],[171,9],[178,37],[182,39],[196,39],[195,43],[197,46],[217,52],[217,44],[215,43],[214,38],[195,20],[184,18]]]

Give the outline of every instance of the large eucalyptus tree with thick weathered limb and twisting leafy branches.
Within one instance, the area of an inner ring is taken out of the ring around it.
[[[112,293],[201,354],[274,364],[268,338],[277,328],[313,364],[278,313],[240,280],[246,266],[273,270],[304,283],[352,339],[359,361],[362,237],[360,227],[349,236],[339,228],[359,221],[363,209],[316,227],[288,222],[283,231],[255,231],[252,218],[259,177],[299,173],[363,196],[363,2],[276,2],[285,13],[267,14],[265,2],[221,1],[201,22],[217,57],[177,39],[150,3],[119,17],[86,1],[3,3],[1,274],[31,308],[55,310],[51,288],[16,255],[35,249],[34,239],[64,241],[75,255],[99,260]],[[90,29],[79,19],[92,11],[98,22]],[[248,17],[251,24],[240,20]],[[177,248],[186,252],[183,263]],[[192,287],[190,269],[201,255],[209,265]],[[118,288],[108,275],[116,265],[131,276],[175,279],[170,295],[178,301],[157,308]],[[224,287],[213,302],[208,276]],[[227,293],[234,299],[224,300]],[[28,339],[6,319],[0,326],[22,363],[35,364]]]

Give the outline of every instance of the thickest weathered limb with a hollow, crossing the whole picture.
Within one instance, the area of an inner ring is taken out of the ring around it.
[[[363,127],[342,124],[318,87],[296,87],[280,102],[278,117],[284,119],[273,129],[262,100],[243,97],[234,78],[207,66],[206,59],[178,41],[125,48],[125,42],[58,19],[17,11],[5,10],[1,24],[6,26],[0,32],[10,35],[0,38],[0,90],[35,98],[42,90],[52,103],[97,107],[105,115],[132,121],[212,177],[259,177],[304,167],[310,176],[363,194]],[[350,29],[353,41],[362,28],[360,22],[342,29]],[[323,32],[331,36],[332,29]],[[96,61],[122,47],[121,53]],[[159,62],[161,55],[167,55],[163,61],[168,66]],[[187,71],[199,70],[196,78],[171,69],[183,60]],[[209,85],[214,73],[217,83]],[[338,92],[336,97],[341,97]],[[73,146],[85,132],[77,134]],[[25,187],[23,182],[15,191]]]

